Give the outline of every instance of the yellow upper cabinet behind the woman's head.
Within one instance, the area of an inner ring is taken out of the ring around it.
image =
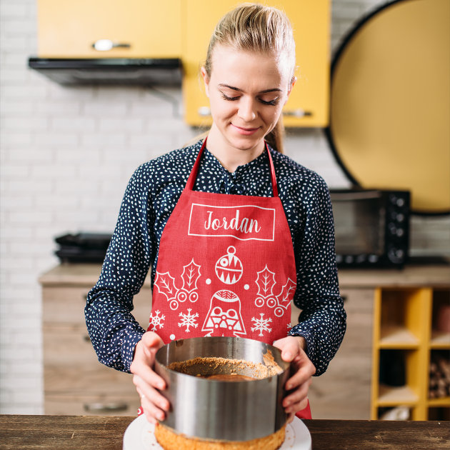
[[[199,75],[217,21],[236,1],[182,2],[184,118],[194,126],[209,126],[209,101]],[[286,12],[296,41],[296,86],[284,106],[285,126],[326,126],[329,120],[329,0],[267,1]]]

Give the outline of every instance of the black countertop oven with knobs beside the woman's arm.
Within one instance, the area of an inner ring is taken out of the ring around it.
[[[401,267],[409,256],[409,191],[331,189],[337,266]]]

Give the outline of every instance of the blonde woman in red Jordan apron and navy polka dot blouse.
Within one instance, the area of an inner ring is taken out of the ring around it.
[[[245,4],[226,14],[201,69],[207,138],[144,164],[127,187],[86,324],[99,360],[134,374],[153,423],[169,411],[152,369],[164,343],[225,335],[274,344],[295,369],[283,401],[291,419],[310,417],[311,376],[344,336],[329,191],[280,152],[294,66],[281,11]],[[150,266],[144,332],[130,311]],[[291,300],[302,309],[293,327]]]

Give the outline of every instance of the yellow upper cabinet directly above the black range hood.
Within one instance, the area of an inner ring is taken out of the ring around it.
[[[38,0],[37,4],[40,58],[180,57],[181,0]],[[101,40],[116,46],[94,49]]]

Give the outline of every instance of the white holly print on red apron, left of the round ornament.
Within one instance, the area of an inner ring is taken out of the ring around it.
[[[180,303],[183,303],[187,299],[191,303],[195,303],[199,299],[197,293],[197,281],[200,278],[200,266],[194,263],[194,259],[183,266],[183,274],[181,280],[183,285],[181,288],[177,288],[175,285],[175,279],[169,272],[161,274],[156,271],[155,286],[158,288],[159,294],[166,296],[169,301],[169,306],[172,310],[176,311]]]

